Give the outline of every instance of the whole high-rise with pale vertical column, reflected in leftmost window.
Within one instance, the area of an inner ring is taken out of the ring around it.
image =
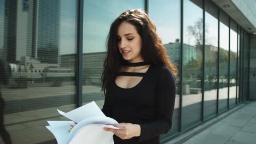
[[[28,56],[57,64],[59,27],[60,0],[5,1],[4,58],[16,63]]]

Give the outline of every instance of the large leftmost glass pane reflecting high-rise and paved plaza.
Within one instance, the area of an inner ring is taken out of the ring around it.
[[[66,112],[75,107],[76,4],[0,2],[0,58],[11,74],[9,85],[1,85],[1,131],[4,116],[13,143],[53,140],[46,121],[64,119],[56,109]]]

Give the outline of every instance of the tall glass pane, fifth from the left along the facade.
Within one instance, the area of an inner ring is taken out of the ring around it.
[[[205,118],[216,115],[218,84],[218,8],[205,4]]]

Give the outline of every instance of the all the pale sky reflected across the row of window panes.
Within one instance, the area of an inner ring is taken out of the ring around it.
[[[76,42],[76,12],[77,5],[74,1],[61,1],[60,5],[60,54],[72,54],[75,52]],[[84,35],[83,53],[106,51],[106,39],[110,24],[123,11],[128,9],[144,9],[143,0],[87,0],[84,1]],[[157,32],[163,44],[174,42],[180,39],[181,33],[181,6],[179,1],[149,1],[149,17],[156,25]],[[168,15],[166,15],[168,14]],[[206,14],[207,15],[207,14]],[[194,25],[194,22],[202,17],[202,9],[190,1],[184,1],[184,43],[195,44],[195,39],[189,37],[187,27]],[[4,31],[4,1],[0,1],[0,49],[3,47]],[[214,17],[208,16],[206,20],[208,27],[207,40],[213,45],[216,41],[217,21]],[[228,38],[225,26],[220,27],[223,38]],[[223,29],[223,30],[222,30]],[[232,36],[234,37],[234,36]],[[231,37],[231,38],[232,38]],[[228,45],[228,40],[223,39],[221,47]],[[233,51],[233,50],[232,50]]]

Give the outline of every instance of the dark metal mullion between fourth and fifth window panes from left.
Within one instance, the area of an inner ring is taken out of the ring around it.
[[[202,109],[201,109],[201,121],[204,121],[204,105],[205,105],[205,0],[203,1],[203,44],[202,44]]]

